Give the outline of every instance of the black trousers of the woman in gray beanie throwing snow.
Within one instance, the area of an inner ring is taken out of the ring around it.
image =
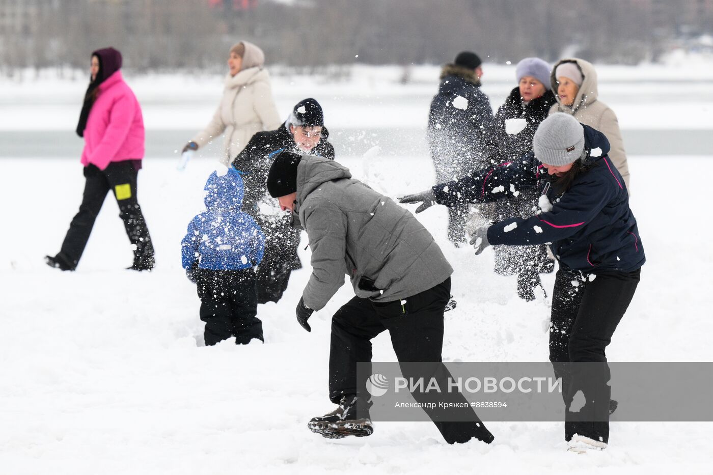
[[[557,272],[552,300],[550,362],[555,377],[563,380],[567,408],[565,440],[569,441],[574,434],[605,443],[609,440],[611,387],[605,348],[629,307],[639,280],[640,269],[583,274],[560,268]],[[562,364],[566,362],[600,364]],[[575,414],[570,412],[570,404],[580,391],[585,406]],[[599,422],[588,422],[586,414],[595,416]]]

